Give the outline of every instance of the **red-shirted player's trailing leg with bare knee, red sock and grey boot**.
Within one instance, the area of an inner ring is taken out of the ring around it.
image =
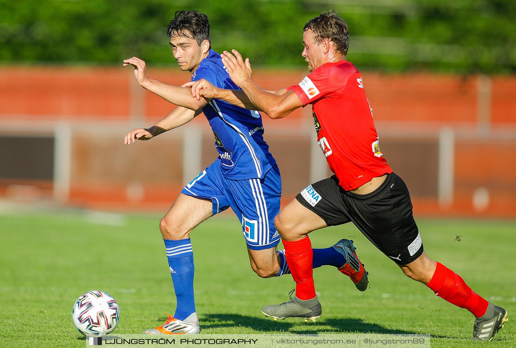
[[[475,293],[464,280],[446,266],[430,259],[425,252],[415,261],[399,265],[408,277],[421,281],[436,295],[475,315],[474,341],[490,341],[508,321],[507,311]]]

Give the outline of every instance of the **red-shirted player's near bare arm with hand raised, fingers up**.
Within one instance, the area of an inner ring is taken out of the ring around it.
[[[256,106],[256,109],[262,110],[270,118],[282,118],[298,107],[303,106],[303,103],[292,90],[280,89],[275,93],[260,88],[251,79],[252,70],[249,58],[246,58],[244,61],[238,51],[232,50],[232,52],[234,55],[224,51],[220,55],[222,62],[228,70],[231,80],[243,89],[249,101]]]

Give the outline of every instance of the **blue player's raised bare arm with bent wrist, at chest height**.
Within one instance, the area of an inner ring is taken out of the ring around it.
[[[140,58],[133,57],[125,59],[123,66],[125,67],[127,65],[132,65],[134,67],[134,77],[141,87],[150,90],[157,96],[162,97],[172,104],[183,106],[190,110],[198,110],[207,104],[207,101],[204,98],[192,98],[189,88],[169,85],[148,77],[147,66]]]

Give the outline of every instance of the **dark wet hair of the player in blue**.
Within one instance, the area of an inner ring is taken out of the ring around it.
[[[200,46],[204,40],[210,41],[208,16],[197,10],[177,11],[174,19],[168,24],[167,34],[170,39],[176,36],[194,39]]]

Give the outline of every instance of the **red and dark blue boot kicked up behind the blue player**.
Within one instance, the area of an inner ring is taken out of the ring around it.
[[[358,290],[366,291],[367,284],[369,283],[367,278],[369,273],[358,259],[357,252],[355,251],[357,248],[353,246],[353,241],[341,239],[332,248],[340,252],[346,259],[346,263],[338,267],[338,270],[351,278]]]

